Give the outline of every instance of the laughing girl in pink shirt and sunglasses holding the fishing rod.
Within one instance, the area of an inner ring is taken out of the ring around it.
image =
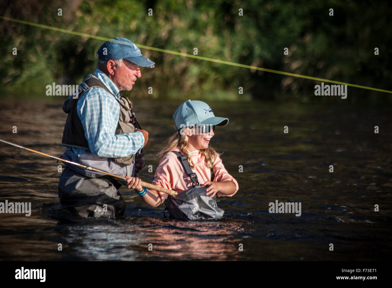
[[[173,118],[178,131],[169,138],[166,147],[158,152],[160,163],[152,184],[170,190],[187,190],[187,196],[179,192],[179,196],[172,197],[156,190],[147,190],[140,185],[139,178],[128,178],[127,186],[135,189],[145,203],[152,207],[165,202],[174,218],[220,218],[223,210],[216,206],[216,196],[233,196],[238,191],[238,183],[227,172],[220,154],[209,147],[209,143],[214,136],[215,126],[225,126],[229,120],[215,117],[206,103],[191,100],[178,107]],[[199,188],[193,188],[196,192],[189,190],[192,187]],[[198,199],[192,200],[195,193],[198,193]],[[172,209],[173,206],[176,211]],[[182,213],[178,212],[178,206],[183,208],[180,209]],[[207,217],[203,217],[205,215]]]

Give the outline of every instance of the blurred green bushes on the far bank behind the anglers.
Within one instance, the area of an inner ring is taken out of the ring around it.
[[[197,47],[208,58],[392,90],[387,1],[8,1],[2,16],[187,54]],[[5,20],[0,33],[2,94],[45,95],[52,82],[80,83],[95,70],[103,43]],[[142,81],[124,93],[132,98],[334,101],[314,96],[319,82],[312,80],[141,50],[156,66],[142,69]],[[348,102],[390,100],[387,93],[348,87]]]

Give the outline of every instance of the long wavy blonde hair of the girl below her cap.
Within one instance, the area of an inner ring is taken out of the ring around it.
[[[180,134],[180,132],[177,132],[176,134],[173,134],[168,140],[167,144],[165,147],[163,147],[160,151],[158,151],[157,156],[159,162],[162,160],[163,156],[167,152],[170,152],[176,147],[180,147],[181,152],[185,154],[188,158],[188,163],[189,166],[194,168],[194,166],[191,165],[191,154],[189,154],[189,151],[185,149],[188,145],[188,136],[186,134]],[[221,155],[222,153],[218,153],[215,151],[214,148],[208,147],[207,149],[200,149],[199,152],[204,155],[204,162],[205,165],[209,168],[212,168],[214,166],[214,161],[217,155]]]

